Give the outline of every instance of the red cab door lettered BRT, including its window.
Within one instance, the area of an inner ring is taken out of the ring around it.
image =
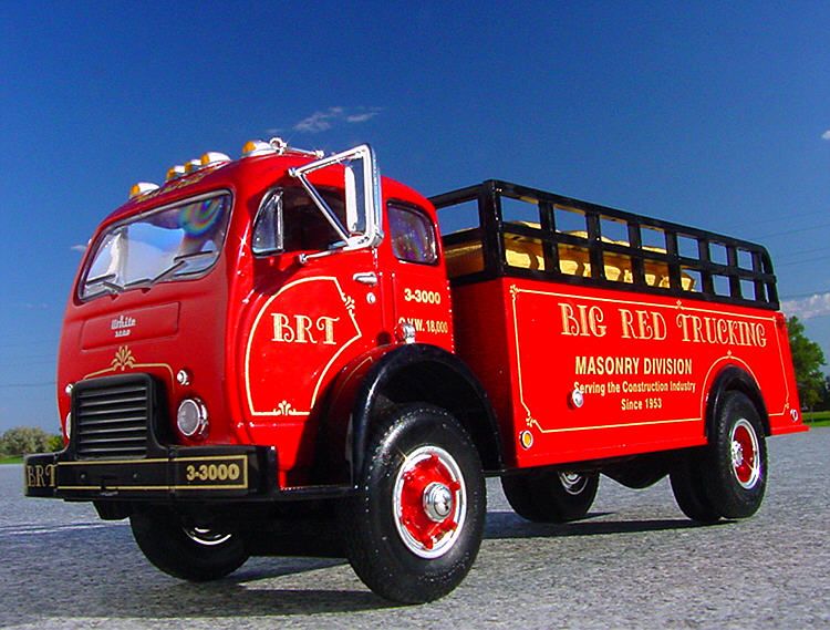
[[[319,175],[314,185],[283,178],[266,194],[255,220],[243,342],[251,433],[303,424],[334,375],[382,339],[377,239],[370,234],[377,224],[365,219],[377,208],[355,205],[354,194],[349,200],[342,166]]]

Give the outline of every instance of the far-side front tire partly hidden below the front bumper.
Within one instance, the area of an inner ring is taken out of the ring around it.
[[[239,535],[186,525],[167,508],[152,508],[129,517],[133,537],[147,559],[165,574],[203,582],[224,578],[248,559]]]

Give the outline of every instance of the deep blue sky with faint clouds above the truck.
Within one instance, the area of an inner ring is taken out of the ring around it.
[[[830,359],[826,2],[0,3],[0,431],[58,426],[80,246],[137,180],[282,135],[370,142],[759,240]]]

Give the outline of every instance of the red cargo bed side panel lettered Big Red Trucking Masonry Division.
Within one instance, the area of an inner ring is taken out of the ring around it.
[[[704,444],[727,366],[757,383],[772,433],[803,430],[775,311],[518,278],[458,287],[454,300],[458,353],[494,401],[508,466]]]

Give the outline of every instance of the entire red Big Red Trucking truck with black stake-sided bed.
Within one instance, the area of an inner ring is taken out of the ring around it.
[[[766,436],[806,431],[762,247],[506,182],[427,199],[367,145],[279,138],[101,224],[58,389],[29,496],[129,518],[173,576],[334,552],[401,602],[464,579],[486,476],[536,521],[584,517],[600,474],[744,518]]]

